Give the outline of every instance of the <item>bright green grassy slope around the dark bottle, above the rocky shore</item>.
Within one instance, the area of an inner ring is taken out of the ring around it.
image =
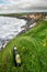
[[[22,59],[21,66],[14,65],[14,44]],[[39,21],[8,43],[0,52],[0,72],[47,72],[47,21]]]

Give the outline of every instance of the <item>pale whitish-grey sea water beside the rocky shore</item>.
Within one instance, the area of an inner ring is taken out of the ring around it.
[[[7,41],[16,37],[25,24],[26,21],[22,19],[0,17],[0,49]]]

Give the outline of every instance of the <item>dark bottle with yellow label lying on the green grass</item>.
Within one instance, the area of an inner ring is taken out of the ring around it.
[[[21,58],[16,47],[13,48],[13,54],[14,54],[15,66],[21,66]]]

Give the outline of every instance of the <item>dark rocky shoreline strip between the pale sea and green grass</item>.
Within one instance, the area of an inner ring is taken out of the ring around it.
[[[30,22],[31,21],[31,22]],[[16,38],[17,35],[20,35],[20,34],[22,34],[22,33],[25,33],[26,31],[28,31],[31,28],[33,28],[35,24],[36,24],[36,22],[33,22],[32,23],[32,20],[30,20],[30,21],[27,21],[26,20],[26,24],[25,25],[23,25],[23,27],[21,27],[21,31],[15,35],[15,37],[13,37],[13,38]],[[12,39],[13,39],[12,38]],[[11,40],[12,40],[11,39]],[[10,41],[10,40],[9,40]],[[5,47],[7,47],[7,44],[9,43],[9,41],[5,41],[5,43],[3,43],[2,45],[1,45],[1,48],[0,48],[0,51],[2,51]]]

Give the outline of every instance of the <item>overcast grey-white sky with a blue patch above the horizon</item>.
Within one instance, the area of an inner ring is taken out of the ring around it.
[[[47,11],[47,0],[0,0],[0,13],[32,11]]]

